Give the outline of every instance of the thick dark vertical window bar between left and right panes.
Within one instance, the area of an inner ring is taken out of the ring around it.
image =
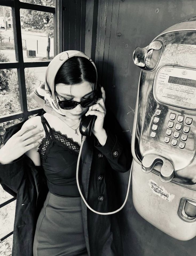
[[[26,85],[25,85],[25,70],[24,70],[24,61],[23,61],[23,52],[22,52],[22,35],[21,35],[19,0],[14,0],[14,8],[12,8],[12,17],[13,17],[13,31],[14,31],[16,61],[18,61],[19,63],[17,74],[18,74],[20,104],[21,104],[21,111],[24,113],[24,116],[22,117],[22,121],[24,121],[24,120],[28,120],[28,110],[27,110],[27,96],[26,96]]]

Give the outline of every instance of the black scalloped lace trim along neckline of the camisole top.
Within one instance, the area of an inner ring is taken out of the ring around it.
[[[46,162],[47,154],[50,152],[54,142],[56,142],[58,146],[68,150],[71,154],[74,153],[78,156],[80,150],[78,142],[74,141],[73,138],[67,137],[67,134],[56,131],[54,127],[51,127],[38,146],[37,152],[40,153],[42,163]]]

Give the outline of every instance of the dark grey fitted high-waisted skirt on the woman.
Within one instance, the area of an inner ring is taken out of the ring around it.
[[[39,214],[33,256],[88,256],[81,197],[58,197],[50,191]]]

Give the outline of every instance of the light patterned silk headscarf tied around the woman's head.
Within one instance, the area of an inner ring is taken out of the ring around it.
[[[30,94],[30,97],[32,97],[34,100],[36,100],[39,105],[45,110],[47,113],[51,115],[58,116],[59,118],[62,118],[62,116],[65,116],[61,112],[61,108],[58,106],[58,102],[55,96],[55,76],[59,70],[59,68],[63,65],[65,61],[70,59],[71,57],[79,56],[89,59],[93,66],[95,67],[94,62],[86,56],[83,52],[70,50],[59,53],[57,56],[54,57],[54,59],[50,62],[46,69],[45,74],[45,83],[38,86],[37,89],[35,89],[34,92]],[[96,76],[97,76],[97,69],[95,67]],[[97,79],[95,83],[95,88],[97,84]]]

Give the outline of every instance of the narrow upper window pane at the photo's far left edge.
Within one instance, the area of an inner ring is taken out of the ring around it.
[[[9,61],[16,61],[11,7],[0,6],[0,62]]]

